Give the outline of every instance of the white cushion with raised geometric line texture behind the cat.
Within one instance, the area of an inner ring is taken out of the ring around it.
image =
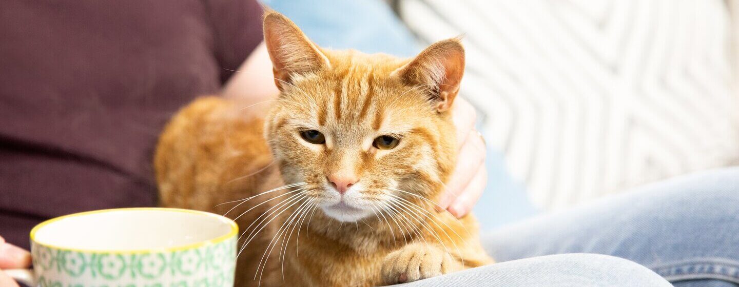
[[[462,94],[548,210],[739,157],[721,0],[402,0],[426,42],[465,34]]]

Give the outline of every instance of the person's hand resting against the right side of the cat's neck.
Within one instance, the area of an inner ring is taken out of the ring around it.
[[[486,148],[483,136],[474,129],[477,120],[474,107],[462,97],[454,101],[452,120],[457,127],[459,153],[452,178],[440,198],[439,209],[449,210],[452,215],[461,218],[483,195],[488,181],[484,164]]]

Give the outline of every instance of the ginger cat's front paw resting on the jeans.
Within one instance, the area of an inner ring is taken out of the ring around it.
[[[457,271],[461,264],[435,244],[412,243],[391,252],[382,263],[386,284],[406,283]]]

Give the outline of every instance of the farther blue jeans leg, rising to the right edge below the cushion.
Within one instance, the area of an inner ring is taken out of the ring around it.
[[[633,260],[677,287],[737,287],[739,167],[649,184],[502,227],[484,241],[498,261],[596,253]]]

